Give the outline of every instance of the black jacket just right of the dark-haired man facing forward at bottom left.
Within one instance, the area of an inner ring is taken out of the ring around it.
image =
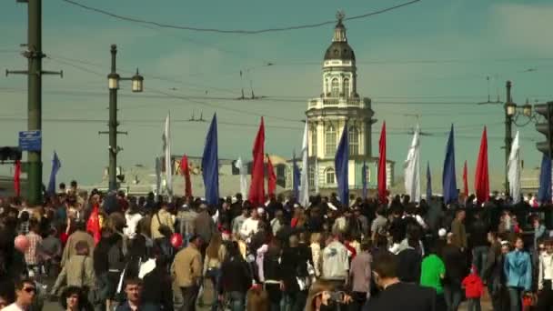
[[[145,304],[161,306],[164,311],[173,310],[171,276],[167,275],[165,266],[156,266],[144,276],[142,301]]]

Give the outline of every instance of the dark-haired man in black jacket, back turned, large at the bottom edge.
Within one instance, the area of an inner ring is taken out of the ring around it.
[[[434,311],[436,291],[430,287],[408,284],[397,278],[397,258],[388,252],[379,252],[373,258],[373,277],[382,291],[371,297],[365,311]]]

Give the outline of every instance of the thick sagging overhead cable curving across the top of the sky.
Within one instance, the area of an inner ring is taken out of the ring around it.
[[[172,28],[172,29],[180,29],[180,30],[188,30],[188,31],[196,31],[196,32],[209,32],[209,33],[220,33],[220,34],[241,34],[241,35],[257,35],[257,34],[263,34],[263,33],[274,33],[274,32],[282,32],[282,31],[289,31],[289,30],[298,30],[298,29],[307,29],[307,28],[317,28],[323,25],[333,25],[336,24],[336,20],[332,21],[326,21],[316,24],[305,24],[305,25],[294,25],[294,26],[283,26],[283,27],[277,27],[277,28],[265,28],[265,29],[257,29],[257,30],[228,30],[228,29],[218,29],[218,28],[202,28],[202,27],[194,27],[194,26],[188,26],[188,25],[169,25],[169,24],[163,24],[159,22],[154,21],[148,21],[146,19],[140,19],[136,17],[130,17],[130,16],[124,16],[124,15],[117,15],[115,13],[108,12],[103,9],[99,9],[96,7],[92,7],[89,5],[83,5],[81,3],[78,3],[73,0],[62,0],[65,3],[68,3],[70,5],[76,5],[81,8],[84,8],[85,10],[96,12],[102,15],[108,15],[111,17],[114,17],[116,19],[124,20],[131,23],[138,23],[143,25],[155,25],[160,28]],[[367,18],[369,16],[373,15],[380,15],[389,11],[396,10],[398,8],[401,8],[403,6],[407,5],[413,5],[417,2],[420,2],[421,0],[412,0],[400,5],[394,5],[390,6],[381,10],[369,12],[362,15],[355,15],[351,17],[344,18],[344,20],[356,20],[361,18]]]

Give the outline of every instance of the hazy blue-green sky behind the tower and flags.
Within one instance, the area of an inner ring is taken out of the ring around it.
[[[362,15],[401,0],[372,1],[179,1],[79,0],[116,15],[224,30],[256,30]],[[26,41],[26,5],[0,3],[0,68],[26,69],[18,54]],[[505,166],[502,105],[478,105],[499,97],[513,82],[518,105],[553,100],[553,40],[550,1],[422,0],[397,10],[346,21],[347,38],[357,56],[357,91],[370,97],[378,132],[387,122],[387,155],[401,176],[417,123],[423,133],[421,161],[435,174],[441,167],[451,124],[456,128],[457,183],[468,161],[474,176],[483,126],[488,126],[490,174]],[[71,5],[43,1],[45,70],[64,77],[43,77],[43,161],[47,182],[54,150],[62,162],[58,181],[82,184],[101,180],[107,166],[109,46],[118,46],[117,70],[133,75],[139,68],[145,92],[132,94],[130,82],[119,91],[119,165],[153,166],[162,153],[161,135],[168,112],[174,154],[200,156],[208,123],[187,122],[194,114],[219,121],[219,157],[251,158],[261,115],[266,117],[266,152],[291,156],[301,144],[307,100],[321,93],[321,66],[334,25],[257,35],[166,29],[127,22]],[[267,65],[267,64],[272,65]],[[242,77],[240,77],[242,72]],[[489,80],[487,79],[489,78]],[[489,81],[489,82],[488,82]],[[237,101],[241,89],[260,100]],[[26,129],[26,78],[0,78],[0,145],[17,145]],[[528,119],[518,117],[524,125]],[[520,131],[526,169],[539,165],[535,145],[542,140],[530,122]],[[377,156],[373,154],[373,156]],[[10,174],[3,166],[0,174]],[[472,188],[474,177],[469,177]],[[460,184],[459,184],[460,185]]]

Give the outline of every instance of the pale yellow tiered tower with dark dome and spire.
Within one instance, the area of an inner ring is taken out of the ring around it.
[[[320,188],[336,188],[334,158],[344,125],[348,125],[350,189],[361,187],[361,166],[371,158],[374,112],[369,98],[357,93],[356,55],[347,43],[344,14],[337,14],[332,43],[323,60],[323,92],[307,103],[310,181]],[[313,163],[312,162],[312,163]],[[317,179],[317,180],[315,180]],[[369,178],[370,179],[370,178]]]

